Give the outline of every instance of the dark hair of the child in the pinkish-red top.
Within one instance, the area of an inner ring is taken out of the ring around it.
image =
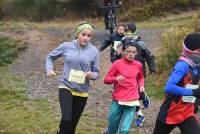
[[[125,37],[122,39],[122,50],[126,50],[129,46],[138,48],[138,44],[132,37]]]

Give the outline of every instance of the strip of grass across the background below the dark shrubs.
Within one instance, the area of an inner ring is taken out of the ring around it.
[[[198,11],[197,11],[198,12]],[[190,23],[192,21],[192,15],[183,16],[183,15],[175,15],[171,19],[159,19],[159,18],[151,18],[149,20],[145,20],[142,22],[136,22],[138,29],[143,28],[169,28],[172,26],[176,26],[179,24]],[[53,20],[42,23],[28,22],[28,21],[0,21],[0,30],[12,30],[12,31],[23,31],[27,28],[36,28],[42,30],[47,27],[51,28],[74,28],[83,20]],[[104,19],[91,19],[87,18],[84,21],[88,21],[96,28],[104,28]],[[120,22],[120,20],[118,20]],[[124,22],[126,23],[126,22]]]

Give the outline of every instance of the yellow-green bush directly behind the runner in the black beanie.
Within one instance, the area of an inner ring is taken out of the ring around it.
[[[163,48],[160,49],[162,54],[158,56],[159,72],[171,70],[182,52],[184,37],[199,30],[200,15],[198,14],[193,17],[192,23],[173,27],[162,35]]]

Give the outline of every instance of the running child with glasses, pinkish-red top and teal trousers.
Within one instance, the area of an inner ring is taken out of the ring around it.
[[[104,78],[105,84],[114,84],[107,134],[117,134],[118,129],[120,134],[128,134],[136,106],[140,105],[138,88],[144,91],[144,75],[142,64],[134,60],[136,54],[134,40],[123,42],[122,58],[112,64]]]

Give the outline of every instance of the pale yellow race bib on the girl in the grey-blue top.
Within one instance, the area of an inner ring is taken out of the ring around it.
[[[69,73],[68,81],[78,83],[78,84],[84,84],[85,78],[86,78],[85,72],[71,69]]]

